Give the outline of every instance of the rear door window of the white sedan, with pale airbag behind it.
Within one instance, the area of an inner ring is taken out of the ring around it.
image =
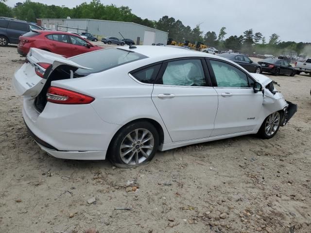
[[[167,64],[160,83],[177,86],[206,86],[200,59],[173,61]]]

